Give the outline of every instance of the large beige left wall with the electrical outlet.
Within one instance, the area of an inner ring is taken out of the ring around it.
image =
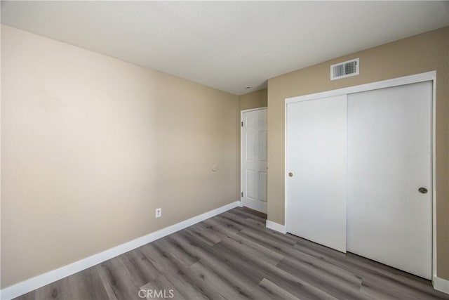
[[[2,288],[239,200],[237,96],[6,26],[1,62]]]

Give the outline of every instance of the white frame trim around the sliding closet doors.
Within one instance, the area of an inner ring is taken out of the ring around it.
[[[432,82],[432,97],[431,97],[431,185],[432,185],[432,209],[431,209],[431,222],[432,222],[432,233],[431,233],[431,254],[432,254],[432,282],[437,278],[436,276],[436,71],[424,72],[420,74],[413,74],[405,77],[398,77],[394,79],[387,79],[383,81],[376,81],[369,84],[361,84],[358,86],[349,86],[347,88],[335,89],[332,91],[324,91],[320,93],[312,93],[304,96],[296,96],[292,98],[285,99],[284,115],[284,149],[285,149],[285,161],[284,161],[284,193],[285,193],[285,204],[284,204],[284,216],[285,216],[285,228],[287,227],[287,207],[288,207],[288,177],[287,177],[287,157],[288,157],[288,141],[287,141],[287,110],[288,104],[296,103],[300,101],[315,100],[319,98],[326,98],[331,96],[339,96],[344,94],[358,93],[362,91],[373,91],[376,89],[385,89],[393,86],[403,86],[406,84],[416,84],[419,82],[431,81]],[[435,284],[434,284],[435,285]]]

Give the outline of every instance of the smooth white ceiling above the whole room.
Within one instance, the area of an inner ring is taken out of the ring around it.
[[[5,25],[237,95],[447,26],[448,12],[448,1],[1,1]]]

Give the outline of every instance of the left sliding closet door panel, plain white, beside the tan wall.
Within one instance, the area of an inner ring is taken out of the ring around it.
[[[287,231],[346,252],[347,96],[288,103],[286,139]]]

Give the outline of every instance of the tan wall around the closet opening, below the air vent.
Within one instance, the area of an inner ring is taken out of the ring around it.
[[[438,277],[449,279],[448,27],[403,39],[268,81],[268,219],[284,223],[284,100],[436,70],[436,223]],[[330,81],[329,66],[360,58],[360,75]]]

